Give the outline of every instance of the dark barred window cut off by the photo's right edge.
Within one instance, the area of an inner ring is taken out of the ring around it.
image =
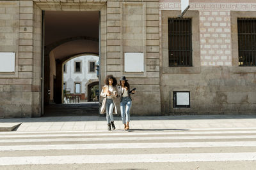
[[[239,66],[256,66],[256,18],[237,18]]]

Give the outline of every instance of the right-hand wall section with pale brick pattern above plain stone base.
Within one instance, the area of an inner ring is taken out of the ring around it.
[[[237,3],[191,2],[190,11],[198,11],[200,37],[200,71],[161,74],[161,110],[168,114],[255,114],[256,111],[256,67],[238,66],[237,18],[255,17],[255,2]],[[180,12],[178,1],[159,1],[159,18],[163,11]],[[233,11],[243,11],[232,16]],[[246,14],[250,13],[250,16]],[[186,15],[184,16],[186,17]],[[160,22],[160,59],[168,58],[164,53],[163,35],[166,30]],[[195,32],[193,32],[195,34]],[[195,43],[195,41],[193,41]],[[195,50],[193,48],[193,50]],[[193,55],[193,57],[198,57]],[[161,67],[162,68],[162,67]],[[188,69],[189,70],[189,69]],[[190,92],[190,108],[173,108],[173,91]]]

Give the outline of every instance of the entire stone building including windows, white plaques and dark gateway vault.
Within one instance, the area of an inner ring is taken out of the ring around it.
[[[113,74],[137,88],[132,115],[255,113],[255,1],[189,6],[179,18],[177,0],[1,0],[0,117],[40,117],[50,59],[63,97],[63,62],[81,53],[99,55],[100,86]]]

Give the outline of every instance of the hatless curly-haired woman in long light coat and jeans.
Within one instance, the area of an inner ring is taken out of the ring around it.
[[[113,113],[117,114],[116,104],[113,100],[113,98],[117,96],[116,78],[113,75],[108,75],[105,79],[105,84],[106,85],[102,87],[102,91],[100,93],[100,96],[104,97],[102,101],[102,106],[100,108],[100,113],[106,113],[108,131],[111,131],[111,125],[113,130],[116,129],[113,117]]]

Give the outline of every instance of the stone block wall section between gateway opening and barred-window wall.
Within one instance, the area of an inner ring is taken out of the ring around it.
[[[132,115],[161,113],[158,11],[158,1],[107,2],[106,72],[101,82],[103,85],[107,74],[113,74],[118,80],[121,76],[127,77],[131,88],[137,88],[132,97]],[[143,73],[124,71],[125,52],[144,53]]]

